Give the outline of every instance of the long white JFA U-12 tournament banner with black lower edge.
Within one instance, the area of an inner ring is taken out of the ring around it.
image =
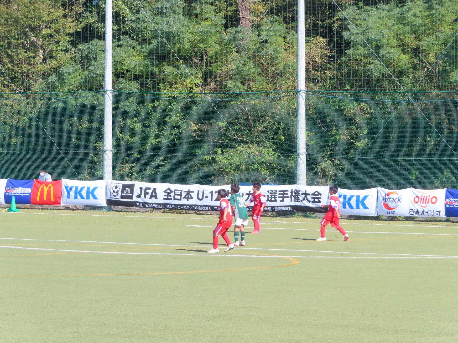
[[[218,189],[224,188],[230,197],[230,185],[176,185],[172,183],[146,183],[107,181],[107,204],[147,209],[187,209],[217,211]],[[326,212],[327,186],[266,186],[261,193],[266,197],[265,211]],[[245,202],[250,200],[251,186],[240,186]],[[252,205],[248,207],[252,209]]]

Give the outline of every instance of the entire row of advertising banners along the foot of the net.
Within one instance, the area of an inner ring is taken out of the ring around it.
[[[126,206],[146,209],[185,209],[217,211],[217,191],[230,185],[177,185],[172,183],[127,182],[114,180],[59,181],[0,179],[0,204]],[[240,186],[247,202],[251,186]],[[265,211],[326,212],[328,186],[262,185]],[[363,190],[339,189],[340,213],[349,215],[388,215],[411,217],[458,217],[458,190],[415,189]],[[228,195],[229,198],[229,195]],[[248,208],[249,210],[252,207]]]

